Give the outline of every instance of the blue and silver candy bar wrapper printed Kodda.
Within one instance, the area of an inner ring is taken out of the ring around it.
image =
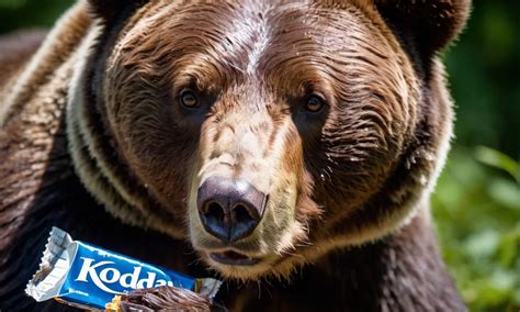
[[[114,296],[134,289],[173,286],[213,298],[221,283],[72,241],[67,232],[53,227],[39,269],[25,292],[36,301],[54,298],[76,307],[104,310]]]

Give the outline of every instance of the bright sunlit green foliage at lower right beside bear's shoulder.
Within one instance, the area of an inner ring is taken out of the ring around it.
[[[444,258],[472,311],[520,309],[520,187],[495,169],[518,167],[487,147],[455,148],[432,198]]]

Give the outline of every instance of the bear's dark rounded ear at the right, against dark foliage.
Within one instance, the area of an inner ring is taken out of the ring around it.
[[[422,59],[431,58],[462,31],[471,0],[374,0],[396,35],[416,47]]]

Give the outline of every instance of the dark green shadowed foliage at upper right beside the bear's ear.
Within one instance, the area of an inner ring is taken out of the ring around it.
[[[520,1],[473,0],[466,31],[445,57],[456,143],[520,156]]]

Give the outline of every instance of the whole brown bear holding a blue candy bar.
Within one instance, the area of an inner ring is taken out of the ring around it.
[[[23,293],[59,226],[224,279],[231,311],[464,311],[429,196],[468,10],[83,0],[4,37],[0,309],[71,309]]]

